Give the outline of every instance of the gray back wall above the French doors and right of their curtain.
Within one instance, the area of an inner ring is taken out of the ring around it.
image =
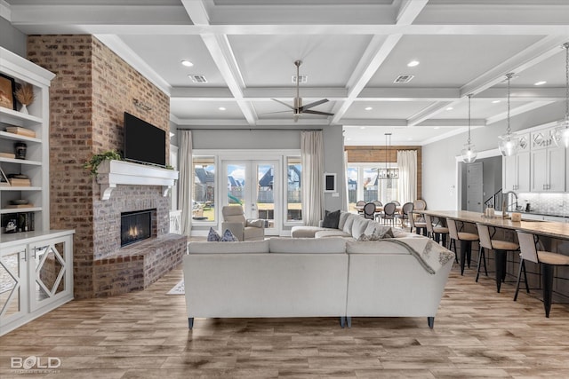
[[[184,127],[179,126],[182,130]],[[301,129],[290,130],[227,130],[215,128],[193,130],[192,142],[194,149],[300,149]],[[296,127],[298,128],[298,127]],[[343,165],[343,135],[341,125],[323,125],[325,146],[325,172],[336,173],[338,197],[325,193],[325,209],[346,209],[344,192],[341,190],[346,182]],[[319,129],[319,128],[318,128]]]

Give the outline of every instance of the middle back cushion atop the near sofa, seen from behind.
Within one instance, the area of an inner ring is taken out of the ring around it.
[[[338,254],[346,252],[346,240],[343,238],[279,238],[268,240],[271,253],[299,254]]]

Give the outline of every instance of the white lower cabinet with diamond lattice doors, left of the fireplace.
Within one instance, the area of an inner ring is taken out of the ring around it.
[[[0,336],[73,299],[73,231],[0,241]]]

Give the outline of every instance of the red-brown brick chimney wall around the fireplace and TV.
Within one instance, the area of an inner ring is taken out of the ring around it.
[[[156,186],[121,188],[111,200],[100,201],[99,186],[83,164],[92,154],[122,150],[124,112],[168,135],[170,101],[93,36],[28,36],[28,59],[56,75],[50,88],[51,228],[76,230],[75,297],[101,296],[94,262],[116,254],[115,237],[109,237],[116,211],[127,208],[129,199],[132,210],[156,206],[158,234],[164,234],[170,206]],[[150,109],[135,107],[134,99]]]

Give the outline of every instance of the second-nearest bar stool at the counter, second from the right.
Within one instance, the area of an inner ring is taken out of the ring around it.
[[[517,251],[519,245],[516,242],[493,240],[490,236],[488,225],[477,223],[478,238],[480,239],[480,251],[478,252],[477,280],[480,276],[480,263],[484,261],[484,270],[488,276],[486,269],[485,249],[494,250],[496,259],[496,292],[500,293],[501,283],[506,280],[506,263],[508,262],[508,252]]]

